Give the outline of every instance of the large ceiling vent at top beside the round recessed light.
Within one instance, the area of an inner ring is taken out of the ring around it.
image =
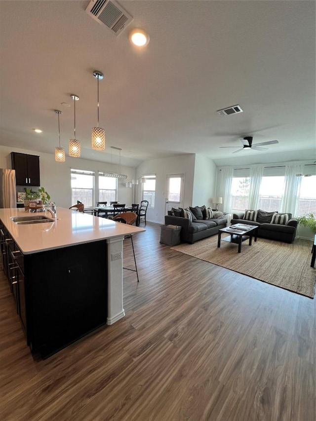
[[[107,26],[116,36],[133,20],[133,17],[116,1],[91,0],[85,11],[101,25]]]

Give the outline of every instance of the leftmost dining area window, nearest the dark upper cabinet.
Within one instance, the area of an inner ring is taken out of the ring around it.
[[[71,200],[75,205],[77,200],[85,207],[94,203],[94,172],[71,170]]]

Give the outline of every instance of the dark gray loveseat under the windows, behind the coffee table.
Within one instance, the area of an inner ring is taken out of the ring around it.
[[[258,226],[258,237],[268,238],[271,240],[284,241],[291,243],[296,234],[297,219],[292,218],[292,214],[288,213],[288,222],[286,224],[271,224],[274,212],[265,212],[261,209],[257,211],[255,221],[247,221],[244,218],[244,212],[234,213],[231,225],[249,224]],[[284,215],[284,214],[281,214]]]

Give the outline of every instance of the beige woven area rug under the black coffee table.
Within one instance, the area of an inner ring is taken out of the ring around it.
[[[225,238],[222,234],[222,238]],[[312,242],[296,239],[292,244],[258,238],[248,240],[237,253],[237,244],[221,241],[217,247],[217,235],[194,244],[180,244],[171,247],[197,259],[223,268],[234,270],[289,291],[314,298],[315,268],[311,268]]]

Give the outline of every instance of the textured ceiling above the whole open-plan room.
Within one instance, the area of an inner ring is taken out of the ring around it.
[[[74,93],[87,159],[109,161],[111,146],[130,166],[182,153],[221,165],[315,159],[314,1],[119,1],[134,20],[118,37],[88,16],[88,3],[0,1],[1,145],[52,153],[59,109],[67,149]],[[144,49],[128,40],[135,27],[150,34]],[[105,75],[105,152],[90,148],[93,70]],[[216,113],[236,104],[243,113]],[[247,155],[219,148],[239,147],[245,135],[279,144]]]

